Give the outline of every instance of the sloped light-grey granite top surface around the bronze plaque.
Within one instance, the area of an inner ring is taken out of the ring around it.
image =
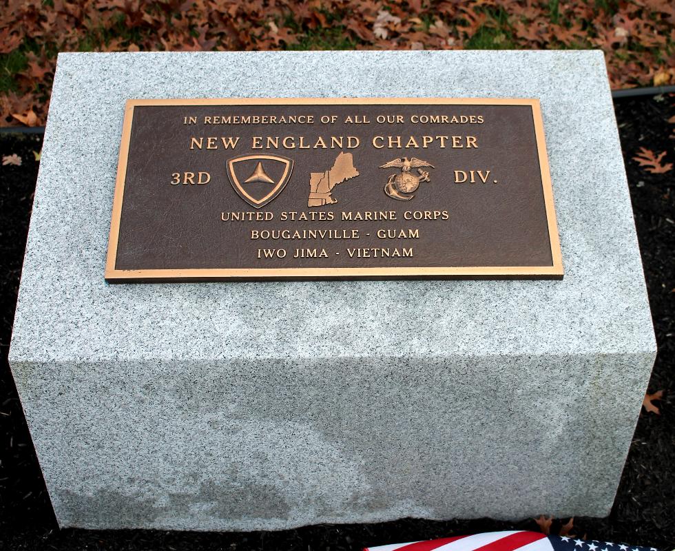
[[[562,281],[103,280],[127,98],[539,98]],[[656,349],[601,52],[60,54],[10,360]]]

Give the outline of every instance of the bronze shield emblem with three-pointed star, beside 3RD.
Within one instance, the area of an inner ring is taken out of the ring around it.
[[[279,196],[292,171],[293,160],[278,155],[242,155],[227,161],[234,191],[256,209]]]

